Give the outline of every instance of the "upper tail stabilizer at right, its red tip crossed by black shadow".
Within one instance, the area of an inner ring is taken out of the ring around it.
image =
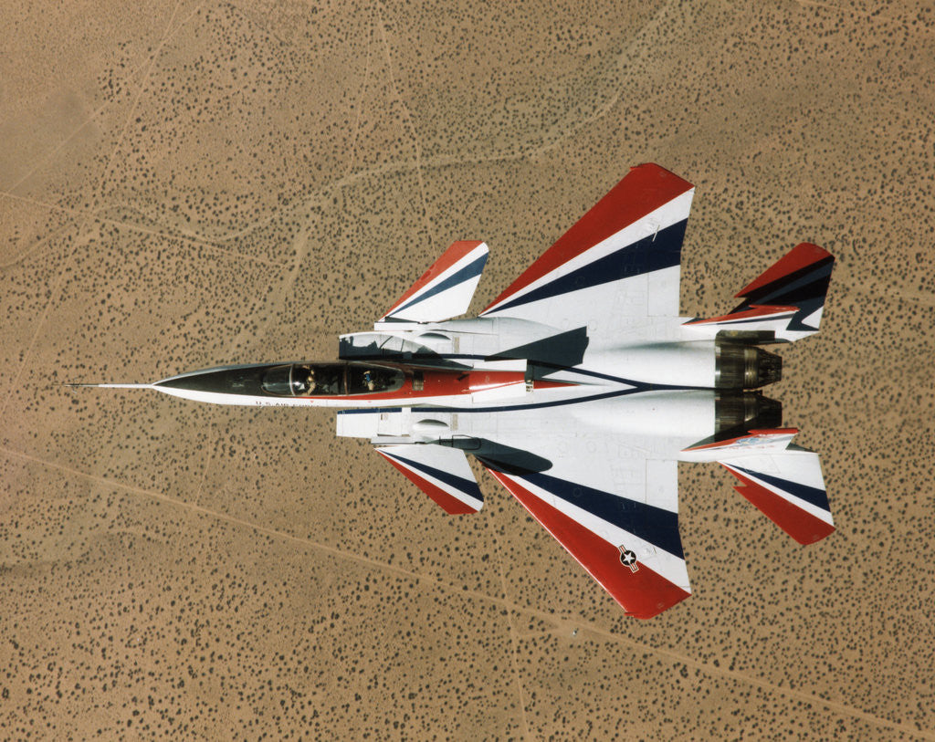
[[[743,303],[722,317],[685,326],[755,342],[791,342],[818,332],[834,256],[802,242],[737,294]]]

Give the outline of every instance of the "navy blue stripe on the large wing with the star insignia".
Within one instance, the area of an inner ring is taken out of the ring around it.
[[[665,549],[669,554],[684,559],[677,513],[547,474],[527,474],[523,478],[565,502],[639,536],[657,549]],[[628,544],[623,546],[629,547]]]

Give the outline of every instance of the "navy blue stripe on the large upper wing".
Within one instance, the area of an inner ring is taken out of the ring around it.
[[[641,276],[654,270],[670,268],[682,261],[682,241],[688,220],[678,221],[655,235],[649,235],[627,245],[626,248],[611,252],[603,258],[583,265],[567,276],[555,278],[550,283],[540,286],[535,291],[513,299],[511,302],[493,308],[499,312],[510,307],[518,307],[540,299],[548,299],[563,293],[590,289],[602,283]]]

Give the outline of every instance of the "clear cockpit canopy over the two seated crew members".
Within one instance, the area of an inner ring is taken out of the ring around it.
[[[395,392],[405,374],[372,364],[283,364],[263,377],[263,391],[281,397],[343,396]]]

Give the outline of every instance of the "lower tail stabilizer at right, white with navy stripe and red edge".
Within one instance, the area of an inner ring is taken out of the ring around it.
[[[718,463],[741,480],[734,489],[799,544],[813,544],[834,531],[817,453],[791,446],[727,456]]]

